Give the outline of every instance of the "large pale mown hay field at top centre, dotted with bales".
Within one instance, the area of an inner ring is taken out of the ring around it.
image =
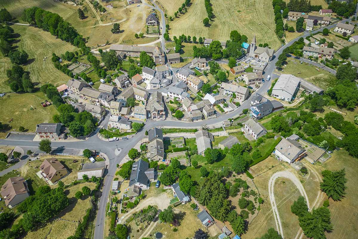
[[[171,3],[169,0],[161,1]],[[251,42],[253,35],[256,34],[257,44],[268,43],[273,49],[281,46],[279,39],[274,34],[275,22],[272,1],[253,0],[250,3],[249,0],[213,0],[211,3],[214,9],[214,18],[213,21],[209,22],[211,24],[209,27],[204,27],[203,23],[200,22],[207,17],[204,0],[193,0],[187,13],[169,22],[171,28],[169,35],[184,34],[191,37],[226,41],[229,39],[230,32],[237,30],[240,34],[245,34],[248,37],[248,42]],[[265,6],[263,6],[264,4]],[[237,10],[241,12],[239,13]]]

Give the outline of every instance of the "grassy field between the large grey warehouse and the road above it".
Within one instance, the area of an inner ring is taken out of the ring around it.
[[[316,67],[309,63],[302,63],[297,59],[293,62],[293,58],[287,58],[287,66],[283,69],[282,74],[292,74],[297,77],[304,78],[306,81],[309,81],[316,86],[326,90],[330,85],[335,85],[336,78],[333,74],[320,69],[320,71],[316,70]],[[295,64],[297,63],[297,64]],[[297,74],[301,72],[301,74]]]

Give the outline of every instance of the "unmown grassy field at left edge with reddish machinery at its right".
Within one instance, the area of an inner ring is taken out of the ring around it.
[[[54,105],[42,107],[40,104],[47,100],[44,94],[6,94],[0,98],[0,109],[4,112],[0,115],[0,122],[4,130],[19,129],[20,126],[30,132],[35,132],[38,123],[53,123],[52,116],[58,114]],[[33,110],[30,107],[33,106]],[[5,113],[6,112],[6,113]],[[11,120],[11,123],[8,123]]]

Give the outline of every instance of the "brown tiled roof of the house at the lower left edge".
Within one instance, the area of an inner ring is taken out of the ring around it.
[[[9,178],[1,187],[1,196],[6,197],[5,205],[8,206],[16,195],[28,193],[28,186],[22,176]]]

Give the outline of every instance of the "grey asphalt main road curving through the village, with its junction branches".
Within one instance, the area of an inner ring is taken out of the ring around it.
[[[156,4],[154,4],[156,6]],[[155,7],[158,9],[162,16],[164,16],[164,13],[161,9],[158,8],[158,6]],[[357,15],[357,14],[355,14]],[[164,17],[162,18],[162,27],[163,31],[162,33],[165,33],[165,23],[164,23]],[[342,22],[347,21],[347,19],[344,19]],[[325,28],[333,28],[337,24],[330,25]],[[318,29],[321,31],[322,29]],[[163,36],[162,34],[162,36]],[[300,37],[306,37],[310,33],[306,33],[303,36]],[[273,72],[275,70],[275,63],[277,62],[277,57],[282,53],[283,49],[286,47],[291,46],[296,40],[298,40],[300,37],[297,37],[296,39],[292,40],[291,42],[287,43],[285,46],[281,47],[277,52],[275,52],[275,57],[272,59],[272,61],[268,64],[266,67],[264,78],[267,77],[267,75],[271,75],[271,79],[274,78]],[[164,46],[164,38],[162,37],[162,44]],[[219,61],[220,62],[220,61]],[[173,72],[175,72],[175,68],[173,68]],[[256,91],[258,94],[265,94],[265,92],[270,88],[271,81],[267,82],[265,80],[265,83],[262,84],[262,86]],[[95,235],[94,238],[103,238],[104,234],[104,224],[105,224],[105,216],[106,216],[106,204],[108,195],[111,188],[111,182],[113,180],[113,175],[116,171],[116,164],[120,164],[123,158],[128,154],[129,150],[136,145],[143,137],[145,137],[144,132],[145,130],[148,130],[150,128],[156,127],[156,126],[171,126],[171,127],[200,127],[202,124],[207,125],[213,125],[220,123],[224,120],[227,120],[229,118],[233,118],[234,116],[240,114],[243,109],[247,109],[250,107],[250,100],[251,96],[248,100],[244,101],[240,107],[238,107],[236,110],[232,111],[231,113],[221,115],[219,118],[216,119],[209,119],[205,121],[200,122],[191,122],[186,123],[183,121],[152,121],[147,120],[145,123],[144,128],[141,130],[141,132],[137,133],[134,137],[125,140],[125,141],[115,141],[115,142],[107,142],[99,139],[96,134],[93,134],[91,137],[89,137],[87,140],[79,141],[79,142],[61,142],[61,141],[55,141],[52,142],[52,147],[54,148],[64,148],[64,149],[95,149],[97,151],[100,151],[101,153],[105,153],[110,161],[110,167],[108,167],[108,174],[104,181],[104,186],[102,189],[102,196],[98,202],[98,211],[97,211],[97,218],[96,218],[96,228],[95,228]],[[8,140],[8,139],[0,139],[1,145],[14,145],[14,146],[20,146],[20,147],[38,147],[38,142],[34,141],[28,141],[28,140]],[[116,148],[121,148],[121,152],[118,156],[115,155],[114,151]]]

